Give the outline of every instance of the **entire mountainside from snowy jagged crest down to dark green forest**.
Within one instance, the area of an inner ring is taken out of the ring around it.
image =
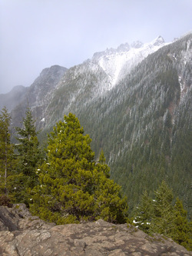
[[[63,70],[53,87],[39,80],[28,90],[42,131],[69,111],[78,116],[96,157],[104,150],[130,211],[142,191],[151,194],[165,180],[191,212],[191,42],[189,34],[168,45],[161,38],[124,45]],[[26,102],[12,111],[13,124]]]

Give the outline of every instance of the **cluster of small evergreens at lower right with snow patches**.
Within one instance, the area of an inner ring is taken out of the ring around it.
[[[134,212],[133,224],[148,234],[164,234],[191,250],[191,227],[182,202],[177,198],[173,205],[173,192],[164,181],[154,194],[152,200],[144,192]]]

